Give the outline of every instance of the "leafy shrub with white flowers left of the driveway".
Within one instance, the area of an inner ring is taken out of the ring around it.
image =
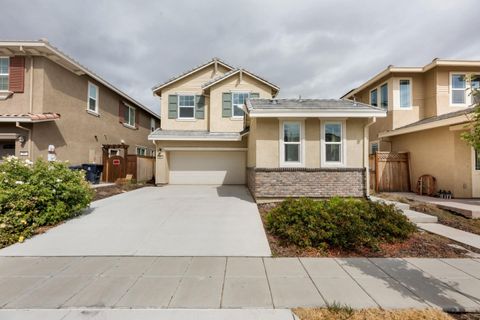
[[[0,163],[0,247],[78,215],[92,196],[84,173],[63,162],[5,158]]]

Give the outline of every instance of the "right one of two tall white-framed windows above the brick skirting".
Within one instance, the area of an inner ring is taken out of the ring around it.
[[[342,165],[343,159],[343,124],[342,122],[325,122],[323,128],[325,165]]]

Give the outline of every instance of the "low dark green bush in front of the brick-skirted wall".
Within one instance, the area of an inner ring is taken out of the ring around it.
[[[377,248],[408,238],[415,226],[393,205],[360,199],[286,199],[266,216],[268,230],[288,244],[320,249]]]

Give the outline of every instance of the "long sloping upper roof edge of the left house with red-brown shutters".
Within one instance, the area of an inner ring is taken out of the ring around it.
[[[93,71],[89,70],[85,66],[81,65],[78,61],[74,60],[67,54],[60,51],[58,48],[52,46],[47,40],[37,40],[37,41],[0,41],[0,55],[32,55],[32,56],[43,56],[47,59],[57,63],[63,68],[70,70],[78,76],[88,75],[92,79],[101,83],[108,89],[117,93],[119,96],[139,107],[140,109],[145,110],[150,115],[154,116],[157,119],[160,119],[160,116],[153,112],[150,108],[138,102],[134,98],[130,97],[125,92],[121,91],[111,83],[107,82],[105,79],[101,78],[99,75],[95,74]]]

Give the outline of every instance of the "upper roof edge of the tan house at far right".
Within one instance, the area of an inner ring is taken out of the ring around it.
[[[345,93],[340,99],[352,98],[356,93],[364,90],[365,88],[369,87],[373,83],[377,82],[378,80],[382,79],[383,77],[391,74],[391,73],[423,73],[427,72],[430,69],[433,69],[438,66],[451,66],[451,67],[480,67],[480,60],[445,60],[445,59],[438,59],[435,58],[429,64],[426,64],[423,67],[395,67],[395,66],[388,66],[374,77],[370,78],[366,82],[362,83],[359,87],[352,89]]]

